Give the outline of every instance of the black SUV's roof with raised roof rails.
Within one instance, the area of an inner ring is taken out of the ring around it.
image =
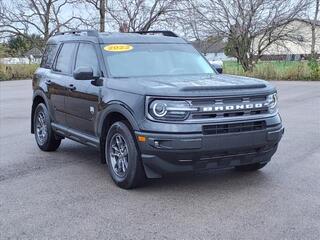
[[[87,34],[81,32],[70,32],[67,34],[58,34],[51,37],[48,43],[54,44],[61,41],[91,41],[94,43],[187,43],[180,37],[163,36],[159,34],[140,34],[140,33],[98,33],[90,31]]]

